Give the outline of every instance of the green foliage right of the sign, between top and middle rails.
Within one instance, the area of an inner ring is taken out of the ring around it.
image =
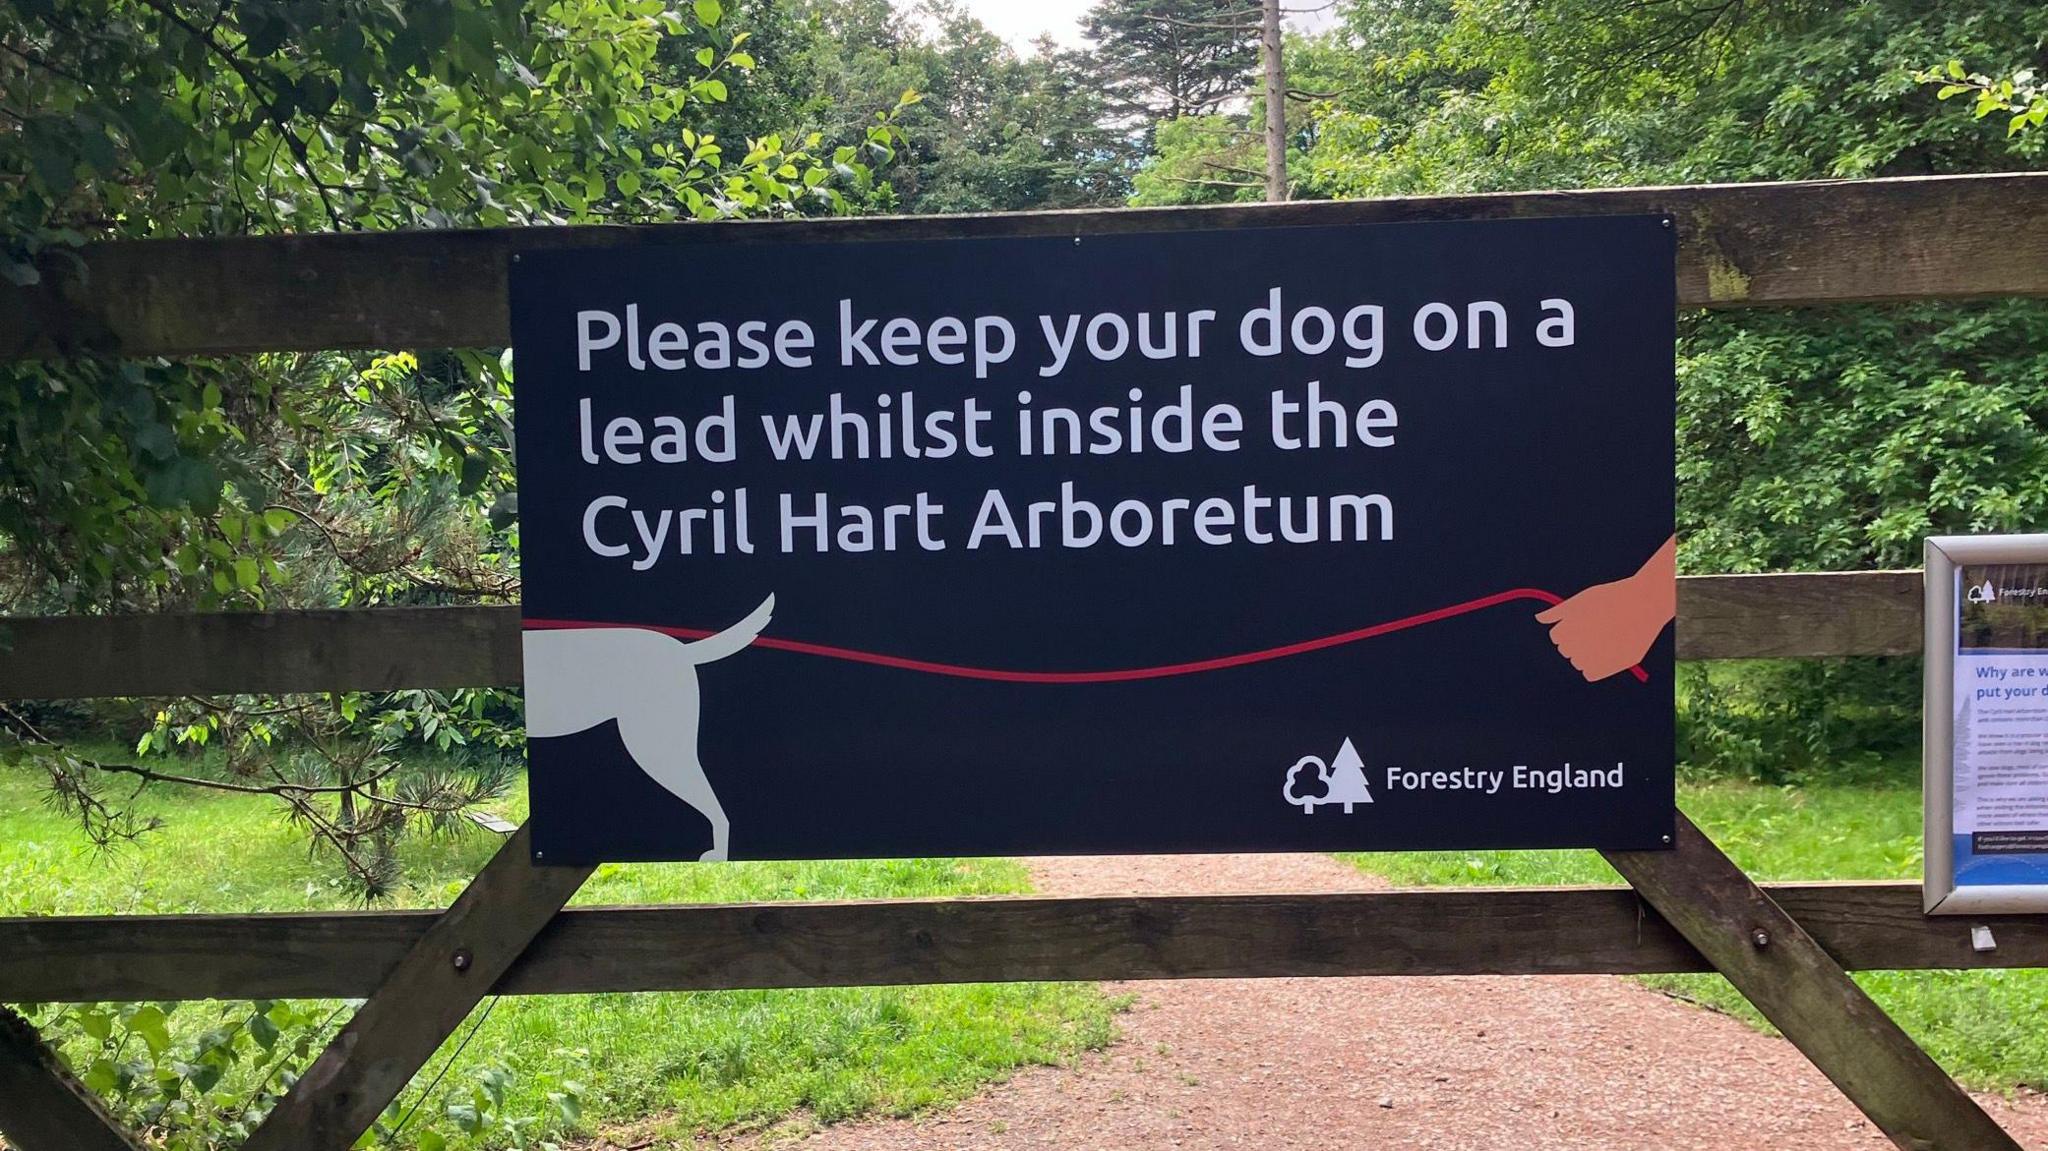
[[[1911,567],[2048,516],[2048,307],[1702,313],[1679,352],[1696,571]]]

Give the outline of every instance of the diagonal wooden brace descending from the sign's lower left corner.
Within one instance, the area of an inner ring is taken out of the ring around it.
[[[246,1151],[348,1151],[590,879],[520,827],[279,1100]]]

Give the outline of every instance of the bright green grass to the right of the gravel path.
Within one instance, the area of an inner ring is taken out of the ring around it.
[[[1679,784],[1679,807],[1761,881],[1919,879],[1919,786],[1694,782]],[[1397,885],[1620,883],[1593,852],[1343,858]],[[2048,971],[1866,971],[1855,981],[1964,1083],[2048,1088]],[[1718,975],[1642,983],[1769,1030]]]

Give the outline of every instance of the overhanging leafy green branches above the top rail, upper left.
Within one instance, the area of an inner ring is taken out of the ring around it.
[[[801,147],[733,164],[690,131],[754,66],[717,0],[690,16],[657,0],[6,12],[14,236],[719,217],[846,207],[860,184]],[[678,37],[688,66],[659,68]],[[637,193],[610,178],[623,168]],[[825,182],[803,184],[807,168]]]

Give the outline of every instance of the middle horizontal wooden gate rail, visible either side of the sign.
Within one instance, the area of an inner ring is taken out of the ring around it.
[[[1921,647],[1919,571],[1688,575],[1677,610],[1679,659]],[[0,698],[502,686],[518,653],[518,608],[0,619]]]

